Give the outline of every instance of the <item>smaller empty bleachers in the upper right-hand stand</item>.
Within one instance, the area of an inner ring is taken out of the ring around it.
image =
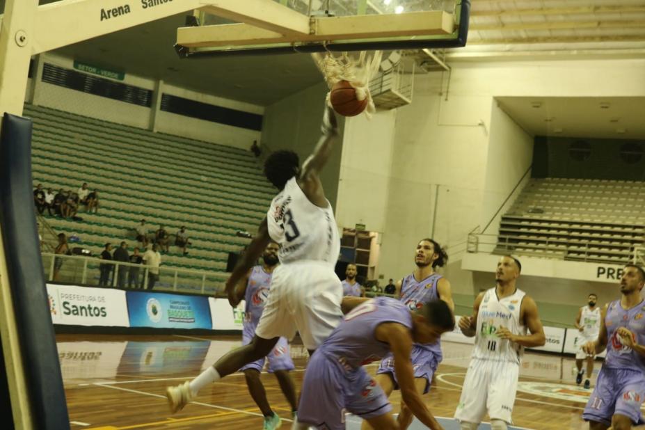
[[[645,182],[534,179],[502,216],[495,253],[626,263],[645,239]]]

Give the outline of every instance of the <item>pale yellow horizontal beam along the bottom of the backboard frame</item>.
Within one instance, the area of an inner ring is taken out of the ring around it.
[[[324,42],[413,35],[447,35],[454,31],[452,15],[443,10],[400,15],[358,15],[312,19],[312,34],[280,35],[248,24],[180,27],[177,44],[184,47],[223,47],[269,43]]]

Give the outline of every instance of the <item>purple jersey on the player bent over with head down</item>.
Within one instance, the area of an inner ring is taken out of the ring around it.
[[[376,340],[379,324],[395,322],[412,328],[412,314],[395,298],[379,297],[366,301],[345,315],[316,353],[333,357],[348,371],[381,360],[390,345]]]

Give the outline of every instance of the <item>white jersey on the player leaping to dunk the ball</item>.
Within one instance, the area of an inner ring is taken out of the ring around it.
[[[280,262],[310,260],[336,264],[340,238],[331,204],[327,205],[323,208],[310,202],[296,177],[287,181],[266,214],[269,236],[280,244]]]

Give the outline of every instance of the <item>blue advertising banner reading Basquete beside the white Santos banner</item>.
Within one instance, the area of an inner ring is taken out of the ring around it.
[[[129,291],[126,298],[131,327],[212,328],[204,296]]]

